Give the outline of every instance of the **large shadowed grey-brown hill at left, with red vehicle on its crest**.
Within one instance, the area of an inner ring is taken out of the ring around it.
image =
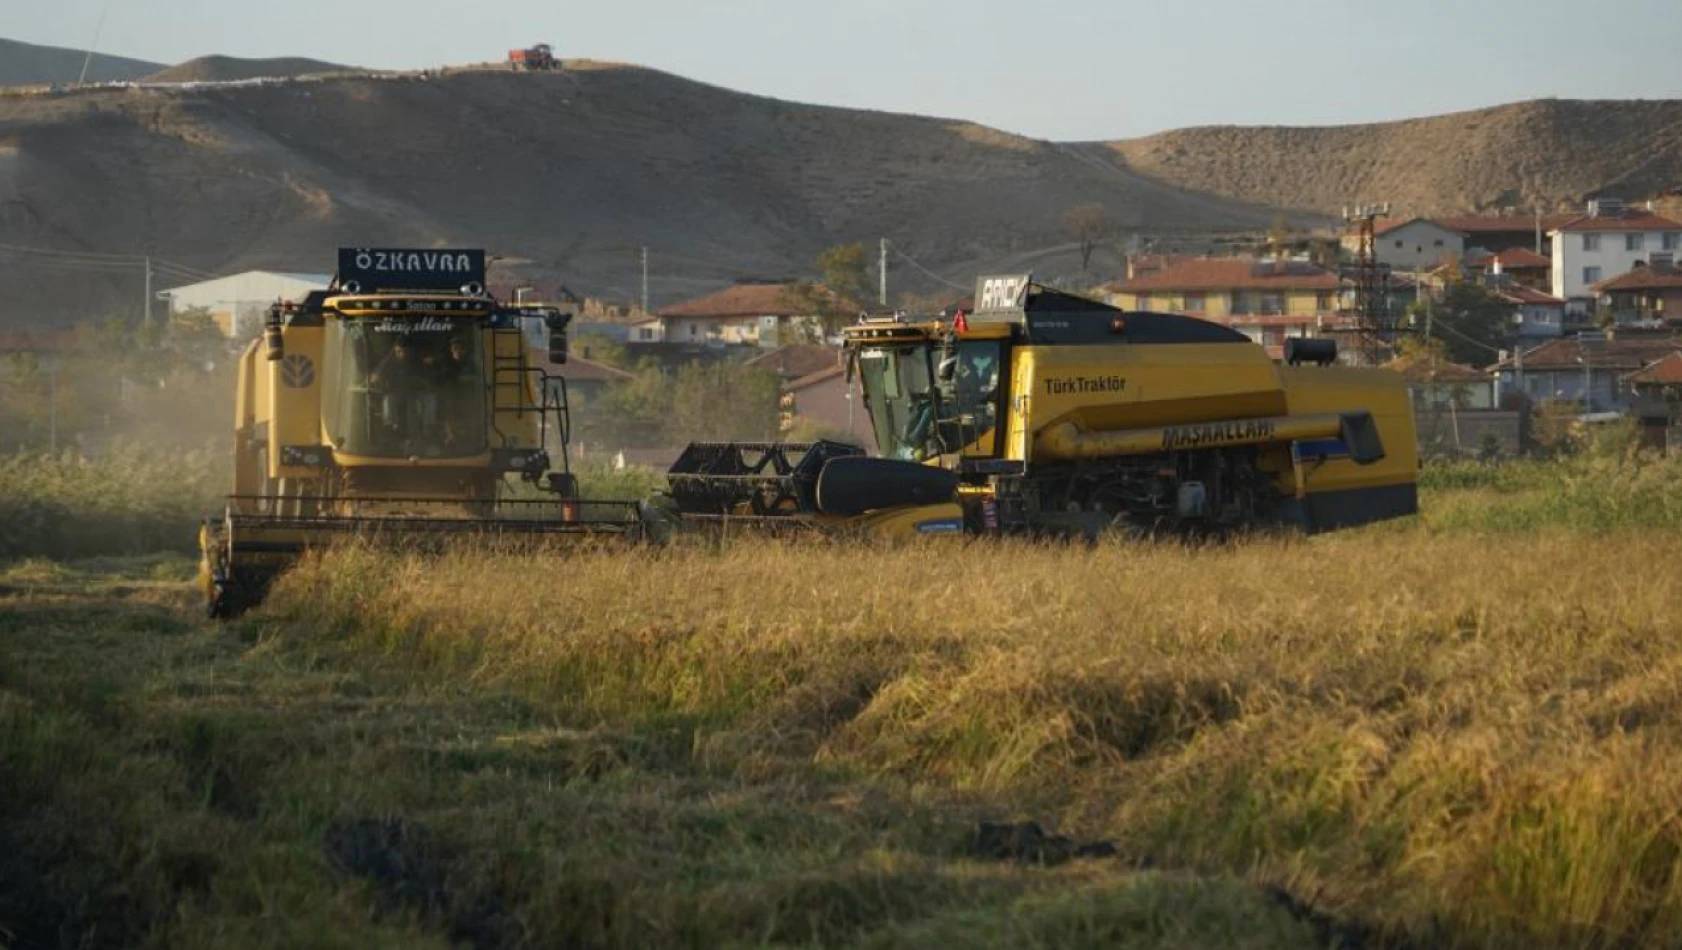
[[[214,272],[330,269],[338,244],[451,242],[631,298],[648,245],[666,303],[888,235],[962,284],[984,266],[1068,271],[1060,219],[1088,202],[1149,230],[1275,217],[967,123],[634,67],[0,96],[0,244],[151,249]],[[895,288],[935,286],[898,261],[891,272]],[[133,284],[0,266],[0,316],[138,309]]]

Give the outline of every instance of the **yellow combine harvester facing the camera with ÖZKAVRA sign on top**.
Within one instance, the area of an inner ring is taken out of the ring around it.
[[[526,341],[542,321],[565,363],[570,319],[500,304],[483,251],[343,249],[330,289],[274,304],[239,363],[234,494],[200,533],[210,615],[346,535],[641,536],[636,503],[579,498],[565,378]]]

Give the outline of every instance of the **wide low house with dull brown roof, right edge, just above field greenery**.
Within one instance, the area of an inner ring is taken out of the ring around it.
[[[1534,402],[1576,402],[1586,412],[1625,412],[1625,377],[1682,351],[1675,336],[1578,335],[1521,348],[1489,368],[1495,400],[1524,393]],[[1586,400],[1584,400],[1586,395]]]

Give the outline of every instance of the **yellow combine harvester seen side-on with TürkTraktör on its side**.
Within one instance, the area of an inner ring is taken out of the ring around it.
[[[881,533],[1309,533],[1418,509],[1403,378],[1290,340],[982,277],[952,321],[861,318],[849,373],[883,457],[696,444],[668,474],[685,521]]]

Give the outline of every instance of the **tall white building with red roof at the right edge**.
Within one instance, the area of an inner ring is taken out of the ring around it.
[[[1561,224],[1547,237],[1554,261],[1551,289],[1564,298],[1571,313],[1588,309],[1589,288],[1600,281],[1645,267],[1655,256],[1674,261],[1682,252],[1682,222],[1613,200],[1589,202],[1588,214]]]

